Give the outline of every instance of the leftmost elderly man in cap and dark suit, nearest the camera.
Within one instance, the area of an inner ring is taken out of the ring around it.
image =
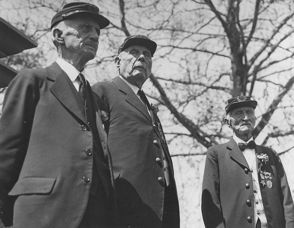
[[[108,24],[95,5],[64,5],[51,22],[56,62],[19,72],[7,88],[0,119],[1,228],[12,222],[14,228],[117,227],[103,101],[84,78]]]

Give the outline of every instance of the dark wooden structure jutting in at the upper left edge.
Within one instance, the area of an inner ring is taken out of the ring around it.
[[[37,42],[0,17],[0,59],[38,47]],[[7,87],[17,71],[0,62],[0,88]]]

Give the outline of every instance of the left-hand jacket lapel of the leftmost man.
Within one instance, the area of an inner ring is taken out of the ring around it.
[[[86,123],[83,101],[66,73],[55,62],[46,70],[47,77],[54,80],[50,88],[54,96],[74,115]]]

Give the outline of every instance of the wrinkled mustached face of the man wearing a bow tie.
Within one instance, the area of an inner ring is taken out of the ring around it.
[[[226,119],[227,125],[231,126],[236,134],[251,133],[255,125],[255,111],[252,107],[235,108]]]

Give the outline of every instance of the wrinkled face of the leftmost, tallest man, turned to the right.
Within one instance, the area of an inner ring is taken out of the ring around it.
[[[88,60],[96,56],[100,28],[95,20],[79,16],[65,21],[63,38],[66,48]]]

